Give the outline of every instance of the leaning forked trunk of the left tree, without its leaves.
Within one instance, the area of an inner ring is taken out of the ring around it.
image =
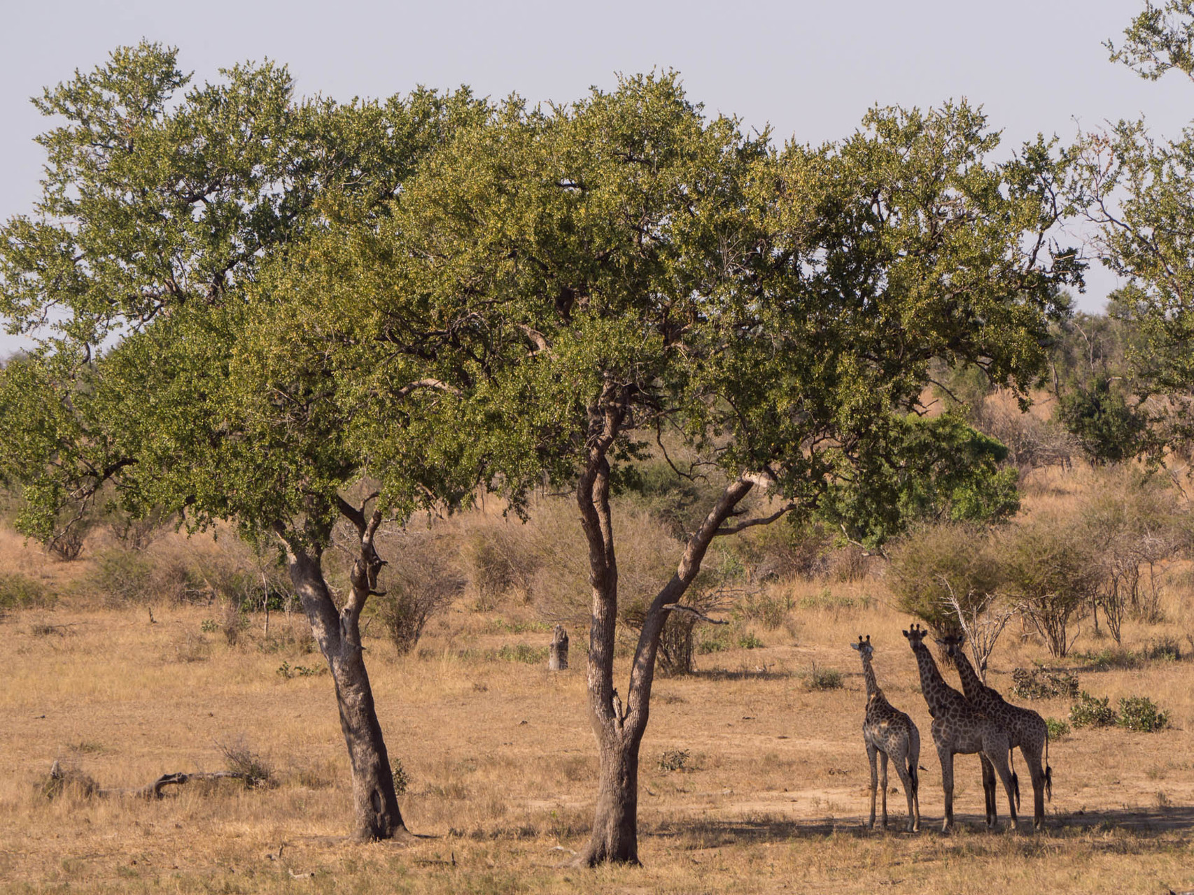
[[[369,595],[376,593],[377,573],[383,564],[374,549],[374,535],[382,517],[380,511],[365,517],[363,508],[345,501],[340,501],[340,512],[356,526],[361,544],[350,575],[352,592],[343,609],[336,607],[324,579],[321,549],[279,533],[287,544],[290,580],[336,684],[340,729],[352,764],[353,835],[361,840],[394,839],[405,837],[407,831],[398,808],[389,754],[361,646],[361,611]]]

